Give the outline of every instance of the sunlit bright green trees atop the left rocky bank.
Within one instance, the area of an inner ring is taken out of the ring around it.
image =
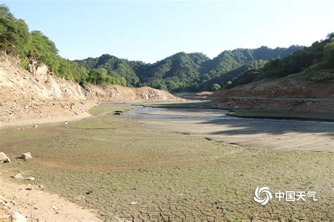
[[[112,75],[105,78],[96,77],[97,70],[90,73],[87,68],[78,63],[61,58],[53,41],[42,32],[29,32],[25,21],[16,19],[4,5],[0,5],[0,50],[6,51],[9,55],[18,56],[21,65],[30,71],[33,71],[36,63],[37,65],[44,63],[56,76],[71,79],[80,84],[86,82],[99,84],[100,82],[94,82],[96,80],[101,83],[126,84],[124,78]]]

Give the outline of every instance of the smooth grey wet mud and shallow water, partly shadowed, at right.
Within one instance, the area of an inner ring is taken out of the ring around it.
[[[228,110],[133,106],[123,118],[154,129],[266,149],[334,152],[334,123],[230,117]]]

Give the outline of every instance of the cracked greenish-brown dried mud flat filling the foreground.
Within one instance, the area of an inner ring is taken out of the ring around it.
[[[13,159],[2,176],[35,176],[32,185],[106,221],[333,220],[333,153],[247,148],[111,114],[128,108],[101,105],[80,122],[0,131]],[[14,158],[27,150],[31,161]],[[318,201],[262,206],[253,200],[261,186],[314,190]]]

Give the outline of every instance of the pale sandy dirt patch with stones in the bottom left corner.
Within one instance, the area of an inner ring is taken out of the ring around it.
[[[7,202],[6,207],[0,204],[0,221],[9,221],[14,210],[26,216],[28,221],[100,221],[92,211],[37,186],[26,190],[27,185],[18,185],[1,177],[0,183],[0,200]]]

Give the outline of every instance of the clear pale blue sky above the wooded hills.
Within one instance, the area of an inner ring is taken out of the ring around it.
[[[334,32],[333,0],[3,0],[64,58],[103,53],[153,63],[180,51],[310,45]]]

